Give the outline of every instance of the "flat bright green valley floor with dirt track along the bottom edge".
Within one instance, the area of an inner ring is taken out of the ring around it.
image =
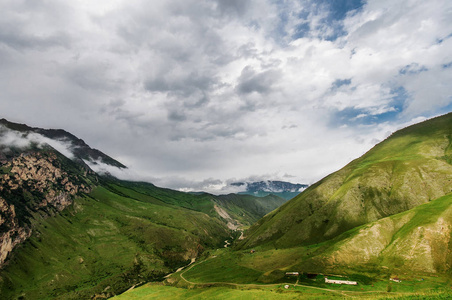
[[[190,276],[196,274],[190,272],[193,268],[215,258],[217,256],[213,255],[190,264],[173,273],[163,283],[147,283],[113,299],[452,299],[452,292],[446,289],[448,286],[439,278],[426,278],[425,281],[422,280],[422,285],[417,280],[401,283],[379,280],[367,285],[325,286],[320,282],[314,282],[313,285],[300,283],[297,277],[286,277],[291,282],[262,284],[230,280],[207,282],[199,280],[197,276]]]

